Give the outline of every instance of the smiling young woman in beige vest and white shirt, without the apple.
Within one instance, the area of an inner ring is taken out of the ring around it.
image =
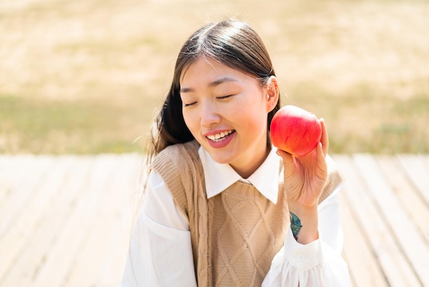
[[[295,158],[269,140],[279,108],[252,27],[221,21],[188,38],[157,117],[123,286],[350,286],[325,124]]]

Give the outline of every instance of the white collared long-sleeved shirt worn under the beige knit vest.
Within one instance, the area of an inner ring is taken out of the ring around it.
[[[198,152],[207,198],[236,181],[247,181],[277,203],[280,161],[275,148],[248,179],[242,179],[230,165],[214,161],[203,148]],[[299,244],[291,228],[287,229],[284,246],[273,258],[262,286],[351,286],[347,265],[341,257],[343,233],[338,190],[319,205],[318,240]],[[175,206],[167,185],[155,171],[149,174],[145,200],[134,224],[122,286],[197,286],[188,219]]]

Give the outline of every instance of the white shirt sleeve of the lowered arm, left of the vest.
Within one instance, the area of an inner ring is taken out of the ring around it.
[[[122,286],[197,286],[188,220],[156,172],[132,230]]]

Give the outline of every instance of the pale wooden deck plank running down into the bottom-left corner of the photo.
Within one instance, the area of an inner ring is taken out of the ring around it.
[[[57,160],[61,161],[62,158]],[[47,258],[48,250],[55,244],[62,226],[75,209],[75,200],[86,191],[93,161],[93,157],[72,157],[69,172],[64,176],[55,195],[50,198],[42,217],[33,228],[31,240],[21,250],[5,278],[0,281],[0,286],[31,286],[33,278],[37,276]]]

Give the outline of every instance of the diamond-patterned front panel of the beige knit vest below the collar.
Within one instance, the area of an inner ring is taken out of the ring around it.
[[[274,205],[253,185],[239,182],[210,200],[213,286],[260,286],[283,245],[287,206]]]

